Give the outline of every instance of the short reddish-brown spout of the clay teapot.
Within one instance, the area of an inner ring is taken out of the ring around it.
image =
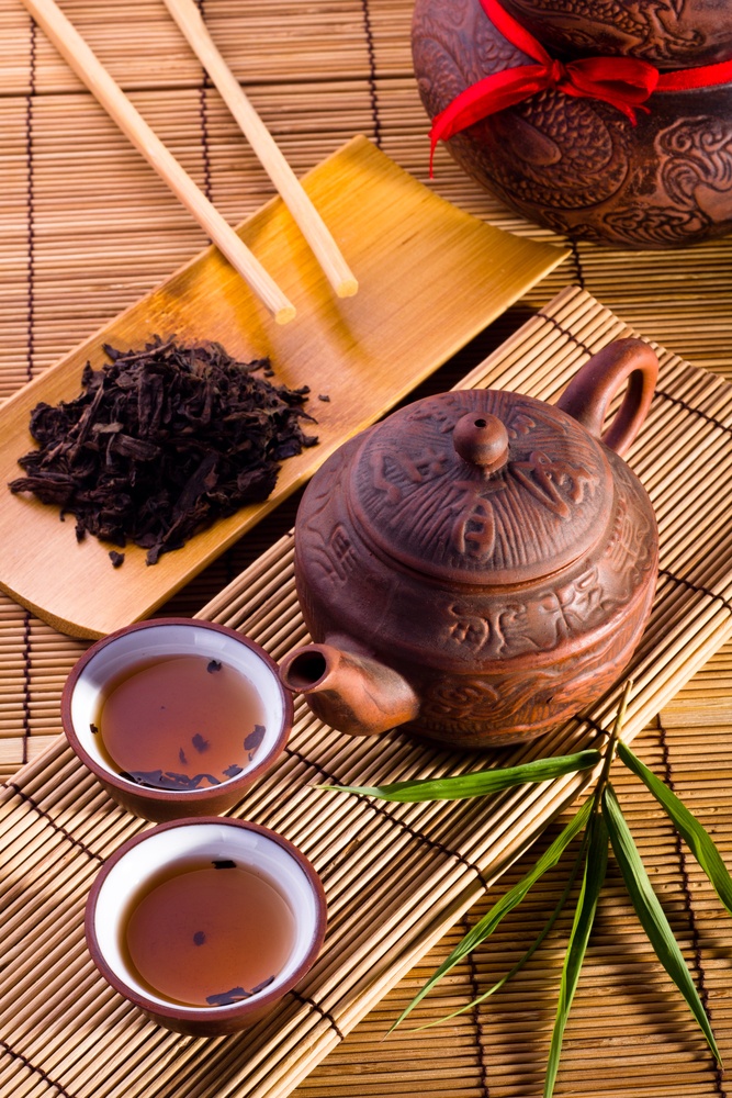
[[[375,736],[413,720],[419,702],[391,668],[333,645],[305,645],[282,660],[280,681],[320,720],[350,736]]]

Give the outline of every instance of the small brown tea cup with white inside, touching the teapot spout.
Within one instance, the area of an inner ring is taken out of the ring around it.
[[[282,751],[292,702],[252,640],[158,618],[92,645],[66,681],[61,720],[108,793],[159,822],[237,804]]]

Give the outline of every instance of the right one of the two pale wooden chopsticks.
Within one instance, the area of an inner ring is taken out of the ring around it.
[[[352,296],[358,290],[356,278],[280,147],[218,52],[194,0],[165,0],[165,4],[280,192],[331,287],[339,298]]]

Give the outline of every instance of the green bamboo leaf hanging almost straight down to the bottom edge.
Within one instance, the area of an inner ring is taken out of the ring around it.
[[[585,959],[589,933],[595,920],[597,900],[603,882],[605,881],[608,864],[608,829],[600,813],[596,813],[592,817],[587,830],[589,832],[589,840],[587,843],[587,858],[585,860],[585,874],[564,957],[564,966],[562,968],[560,997],[544,1078],[544,1098],[552,1098],[554,1093],[554,1083],[562,1054],[564,1029],[570,1017],[574,993],[577,988],[582,963]]]

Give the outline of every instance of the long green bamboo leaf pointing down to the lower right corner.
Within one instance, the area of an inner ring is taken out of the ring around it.
[[[603,793],[603,813],[610,833],[612,850],[615,851],[626,887],[630,893],[630,898],[633,901],[633,907],[643,930],[647,934],[661,964],[686,999],[691,1013],[699,1022],[707,1038],[709,1047],[721,1065],[721,1057],[717,1042],[714,1041],[714,1034],[709,1024],[709,1019],[707,1018],[707,1012],[694,985],[689,970],[686,967],[682,951],[674,938],[674,932],[668,926],[668,920],[658,903],[656,894],[653,892],[649,875],[641,861],[641,855],[638,852],[633,837],[622,815],[615,789],[609,783]]]

